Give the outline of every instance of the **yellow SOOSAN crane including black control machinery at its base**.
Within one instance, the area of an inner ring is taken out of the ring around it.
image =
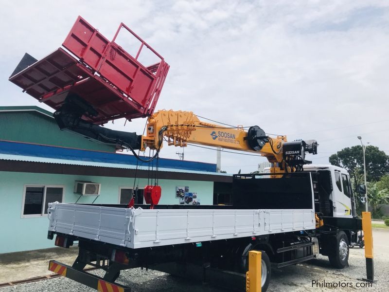
[[[169,146],[186,147],[188,143],[258,153],[272,163],[271,173],[302,169],[305,152],[317,153],[317,142],[287,142],[286,136],[269,137],[258,126],[226,127],[201,121],[192,111],[159,110],[148,118],[147,132],[141,137],[141,150],[159,150],[161,139]]]

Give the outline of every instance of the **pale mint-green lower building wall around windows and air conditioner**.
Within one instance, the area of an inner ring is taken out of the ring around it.
[[[21,218],[25,184],[65,185],[64,202],[74,203],[79,197],[73,194],[74,181],[101,183],[101,193],[95,203],[111,204],[118,203],[120,186],[132,187],[134,184],[133,178],[0,171],[0,254],[54,246],[54,240],[47,239],[47,217]],[[147,179],[137,179],[137,184],[144,187]],[[176,186],[189,186],[191,192],[197,193],[202,205],[213,203],[213,182],[159,180],[159,185],[162,188],[160,204],[178,204]],[[82,197],[78,202],[91,203],[94,199]]]

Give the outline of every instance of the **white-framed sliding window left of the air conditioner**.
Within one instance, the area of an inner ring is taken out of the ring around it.
[[[62,185],[26,185],[23,194],[22,217],[39,217],[47,215],[49,203],[62,202],[64,186]]]

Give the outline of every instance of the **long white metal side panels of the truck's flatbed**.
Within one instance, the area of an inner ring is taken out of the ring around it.
[[[141,209],[50,203],[49,231],[137,249],[315,229],[314,209]]]

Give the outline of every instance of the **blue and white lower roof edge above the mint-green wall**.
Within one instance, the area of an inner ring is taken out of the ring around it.
[[[150,165],[150,170],[151,170]],[[155,164],[154,164],[155,169]],[[216,164],[159,159],[159,179],[232,182]],[[0,171],[149,178],[148,164],[132,155],[0,141]]]

